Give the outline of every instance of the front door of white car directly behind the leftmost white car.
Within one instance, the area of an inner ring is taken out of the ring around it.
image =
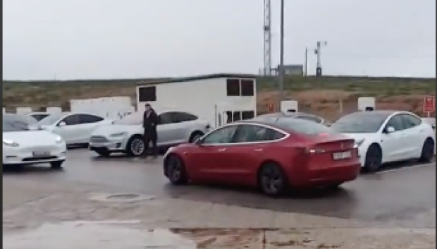
[[[65,125],[62,125],[65,123]],[[54,133],[60,135],[68,145],[80,143],[80,114],[70,114],[63,117],[54,128]]]

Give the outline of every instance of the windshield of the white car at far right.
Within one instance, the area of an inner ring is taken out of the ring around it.
[[[386,121],[388,114],[361,112],[338,119],[331,128],[339,133],[376,133]]]

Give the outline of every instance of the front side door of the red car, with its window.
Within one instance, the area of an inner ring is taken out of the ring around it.
[[[206,135],[187,155],[187,165],[194,166],[194,176],[202,181],[223,182],[229,175],[226,165],[232,160],[228,157],[228,148],[232,147],[232,140],[238,125],[223,126]]]

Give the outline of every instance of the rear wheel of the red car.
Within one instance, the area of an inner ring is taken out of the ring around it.
[[[278,197],[285,194],[288,189],[288,178],[281,166],[267,163],[259,170],[259,188],[265,195]]]

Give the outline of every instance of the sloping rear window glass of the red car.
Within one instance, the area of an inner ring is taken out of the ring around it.
[[[308,121],[305,119],[293,119],[290,117],[283,117],[276,119],[276,126],[282,128],[283,130],[290,130],[295,133],[300,133],[304,135],[321,135],[321,134],[331,134],[333,130],[330,128],[316,123],[314,121]]]

